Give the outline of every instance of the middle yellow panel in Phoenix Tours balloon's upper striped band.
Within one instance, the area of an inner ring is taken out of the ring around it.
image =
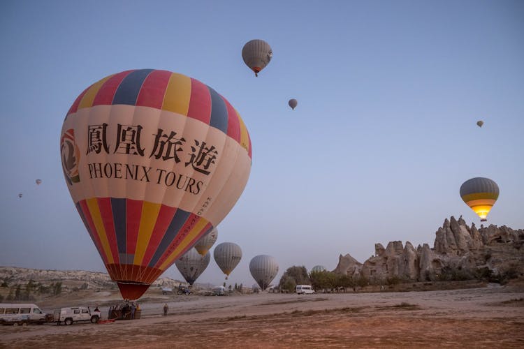
[[[186,115],[191,99],[191,77],[173,73],[169,78],[166,94],[163,96],[162,110]]]

